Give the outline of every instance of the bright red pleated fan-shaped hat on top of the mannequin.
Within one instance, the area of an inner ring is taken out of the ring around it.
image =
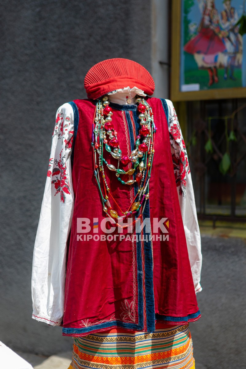
[[[86,74],[84,88],[89,99],[124,87],[138,87],[152,95],[155,82],[147,69],[133,60],[114,58],[94,65]]]

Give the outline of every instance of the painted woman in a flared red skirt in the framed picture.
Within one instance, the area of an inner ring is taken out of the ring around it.
[[[218,83],[217,61],[218,54],[226,50],[223,38],[227,32],[221,29],[219,13],[214,0],[201,1],[201,23],[198,34],[184,45],[184,51],[194,55],[198,68],[207,69],[209,75],[208,86]]]

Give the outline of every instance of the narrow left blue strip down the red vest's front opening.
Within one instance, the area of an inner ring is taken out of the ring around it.
[[[134,142],[134,134],[132,128],[132,122],[129,112],[125,112],[125,116],[127,118],[127,125],[129,130],[129,137],[131,143],[131,151],[134,150],[135,142]],[[140,125],[138,123],[138,116],[136,115],[136,111],[134,112],[134,121],[137,127]],[[136,128],[137,128],[136,127]],[[135,186],[136,185],[136,186]],[[134,184],[134,193],[138,192],[138,184]],[[136,255],[137,255],[137,279],[138,279],[138,325],[139,328],[143,330],[143,270],[142,270],[142,255],[141,255],[141,242],[136,242]]]

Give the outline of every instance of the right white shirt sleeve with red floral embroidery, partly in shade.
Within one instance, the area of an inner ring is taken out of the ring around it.
[[[174,175],[179,196],[180,210],[186,235],[187,249],[195,292],[200,292],[202,254],[201,235],[197,220],[195,197],[186,146],[173,103],[166,100],[169,108],[169,135]]]

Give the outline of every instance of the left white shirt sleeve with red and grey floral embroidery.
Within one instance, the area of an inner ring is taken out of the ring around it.
[[[56,113],[32,265],[32,318],[50,325],[61,325],[64,310],[66,248],[74,204],[73,137],[73,108],[66,103]]]

